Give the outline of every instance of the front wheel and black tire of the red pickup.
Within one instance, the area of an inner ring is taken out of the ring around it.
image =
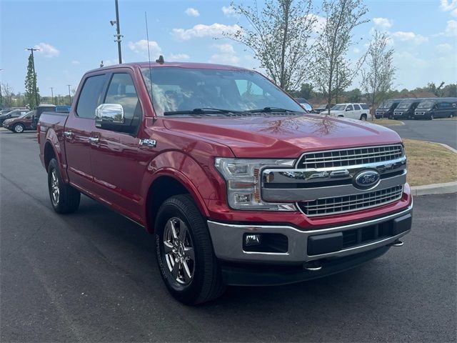
[[[170,197],[161,205],[155,235],[161,277],[175,299],[195,305],[224,293],[206,221],[189,194]]]

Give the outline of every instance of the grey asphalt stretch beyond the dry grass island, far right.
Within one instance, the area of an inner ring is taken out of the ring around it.
[[[389,125],[401,138],[436,141],[457,149],[457,120],[403,120],[404,125]]]

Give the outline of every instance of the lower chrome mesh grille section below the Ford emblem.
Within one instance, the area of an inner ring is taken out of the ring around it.
[[[308,217],[325,216],[390,204],[401,199],[401,194],[403,194],[403,186],[396,186],[375,192],[322,198],[312,202],[300,202],[298,207]]]

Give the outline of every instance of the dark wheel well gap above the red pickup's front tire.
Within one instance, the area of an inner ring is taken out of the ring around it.
[[[166,199],[169,199],[169,197],[178,194],[189,194],[189,191],[181,182],[173,177],[159,177],[151,184],[146,198],[146,229],[149,232],[154,232],[156,215],[161,204],[163,204]]]

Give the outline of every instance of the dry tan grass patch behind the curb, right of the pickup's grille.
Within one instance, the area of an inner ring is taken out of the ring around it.
[[[457,154],[427,141],[403,139],[411,186],[457,181]]]

